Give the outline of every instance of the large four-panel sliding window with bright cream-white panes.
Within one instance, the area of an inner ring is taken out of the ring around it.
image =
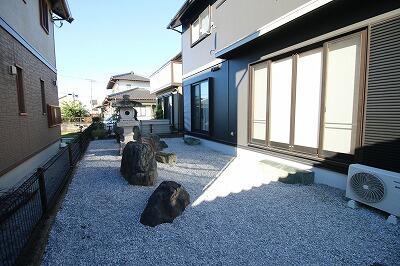
[[[365,39],[362,31],[250,66],[249,142],[354,159],[361,140]]]

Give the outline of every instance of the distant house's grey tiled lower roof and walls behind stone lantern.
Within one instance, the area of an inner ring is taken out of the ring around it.
[[[124,95],[129,95],[129,99],[142,104],[135,107],[138,120],[149,120],[153,118],[153,109],[156,105],[156,96],[151,94],[148,89],[134,88],[127,91],[110,94],[103,101],[104,117],[108,118],[115,114],[113,104],[122,100]]]

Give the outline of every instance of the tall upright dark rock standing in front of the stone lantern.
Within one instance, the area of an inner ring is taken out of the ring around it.
[[[152,186],[157,178],[154,150],[146,143],[128,142],[122,153],[120,171],[131,185]]]

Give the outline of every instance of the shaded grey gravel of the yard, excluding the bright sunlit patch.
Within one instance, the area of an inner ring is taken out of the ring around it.
[[[158,164],[157,185],[177,181],[192,202],[212,190],[231,161],[182,139],[166,142],[178,163]],[[343,191],[322,185],[254,186],[197,200],[174,223],[145,227],[139,218],[155,187],[128,185],[117,154],[112,140],[90,143],[44,265],[400,265],[400,226],[378,211],[346,208]]]

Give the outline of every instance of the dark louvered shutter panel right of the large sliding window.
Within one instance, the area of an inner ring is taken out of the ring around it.
[[[400,171],[400,18],[371,27],[364,163]]]

